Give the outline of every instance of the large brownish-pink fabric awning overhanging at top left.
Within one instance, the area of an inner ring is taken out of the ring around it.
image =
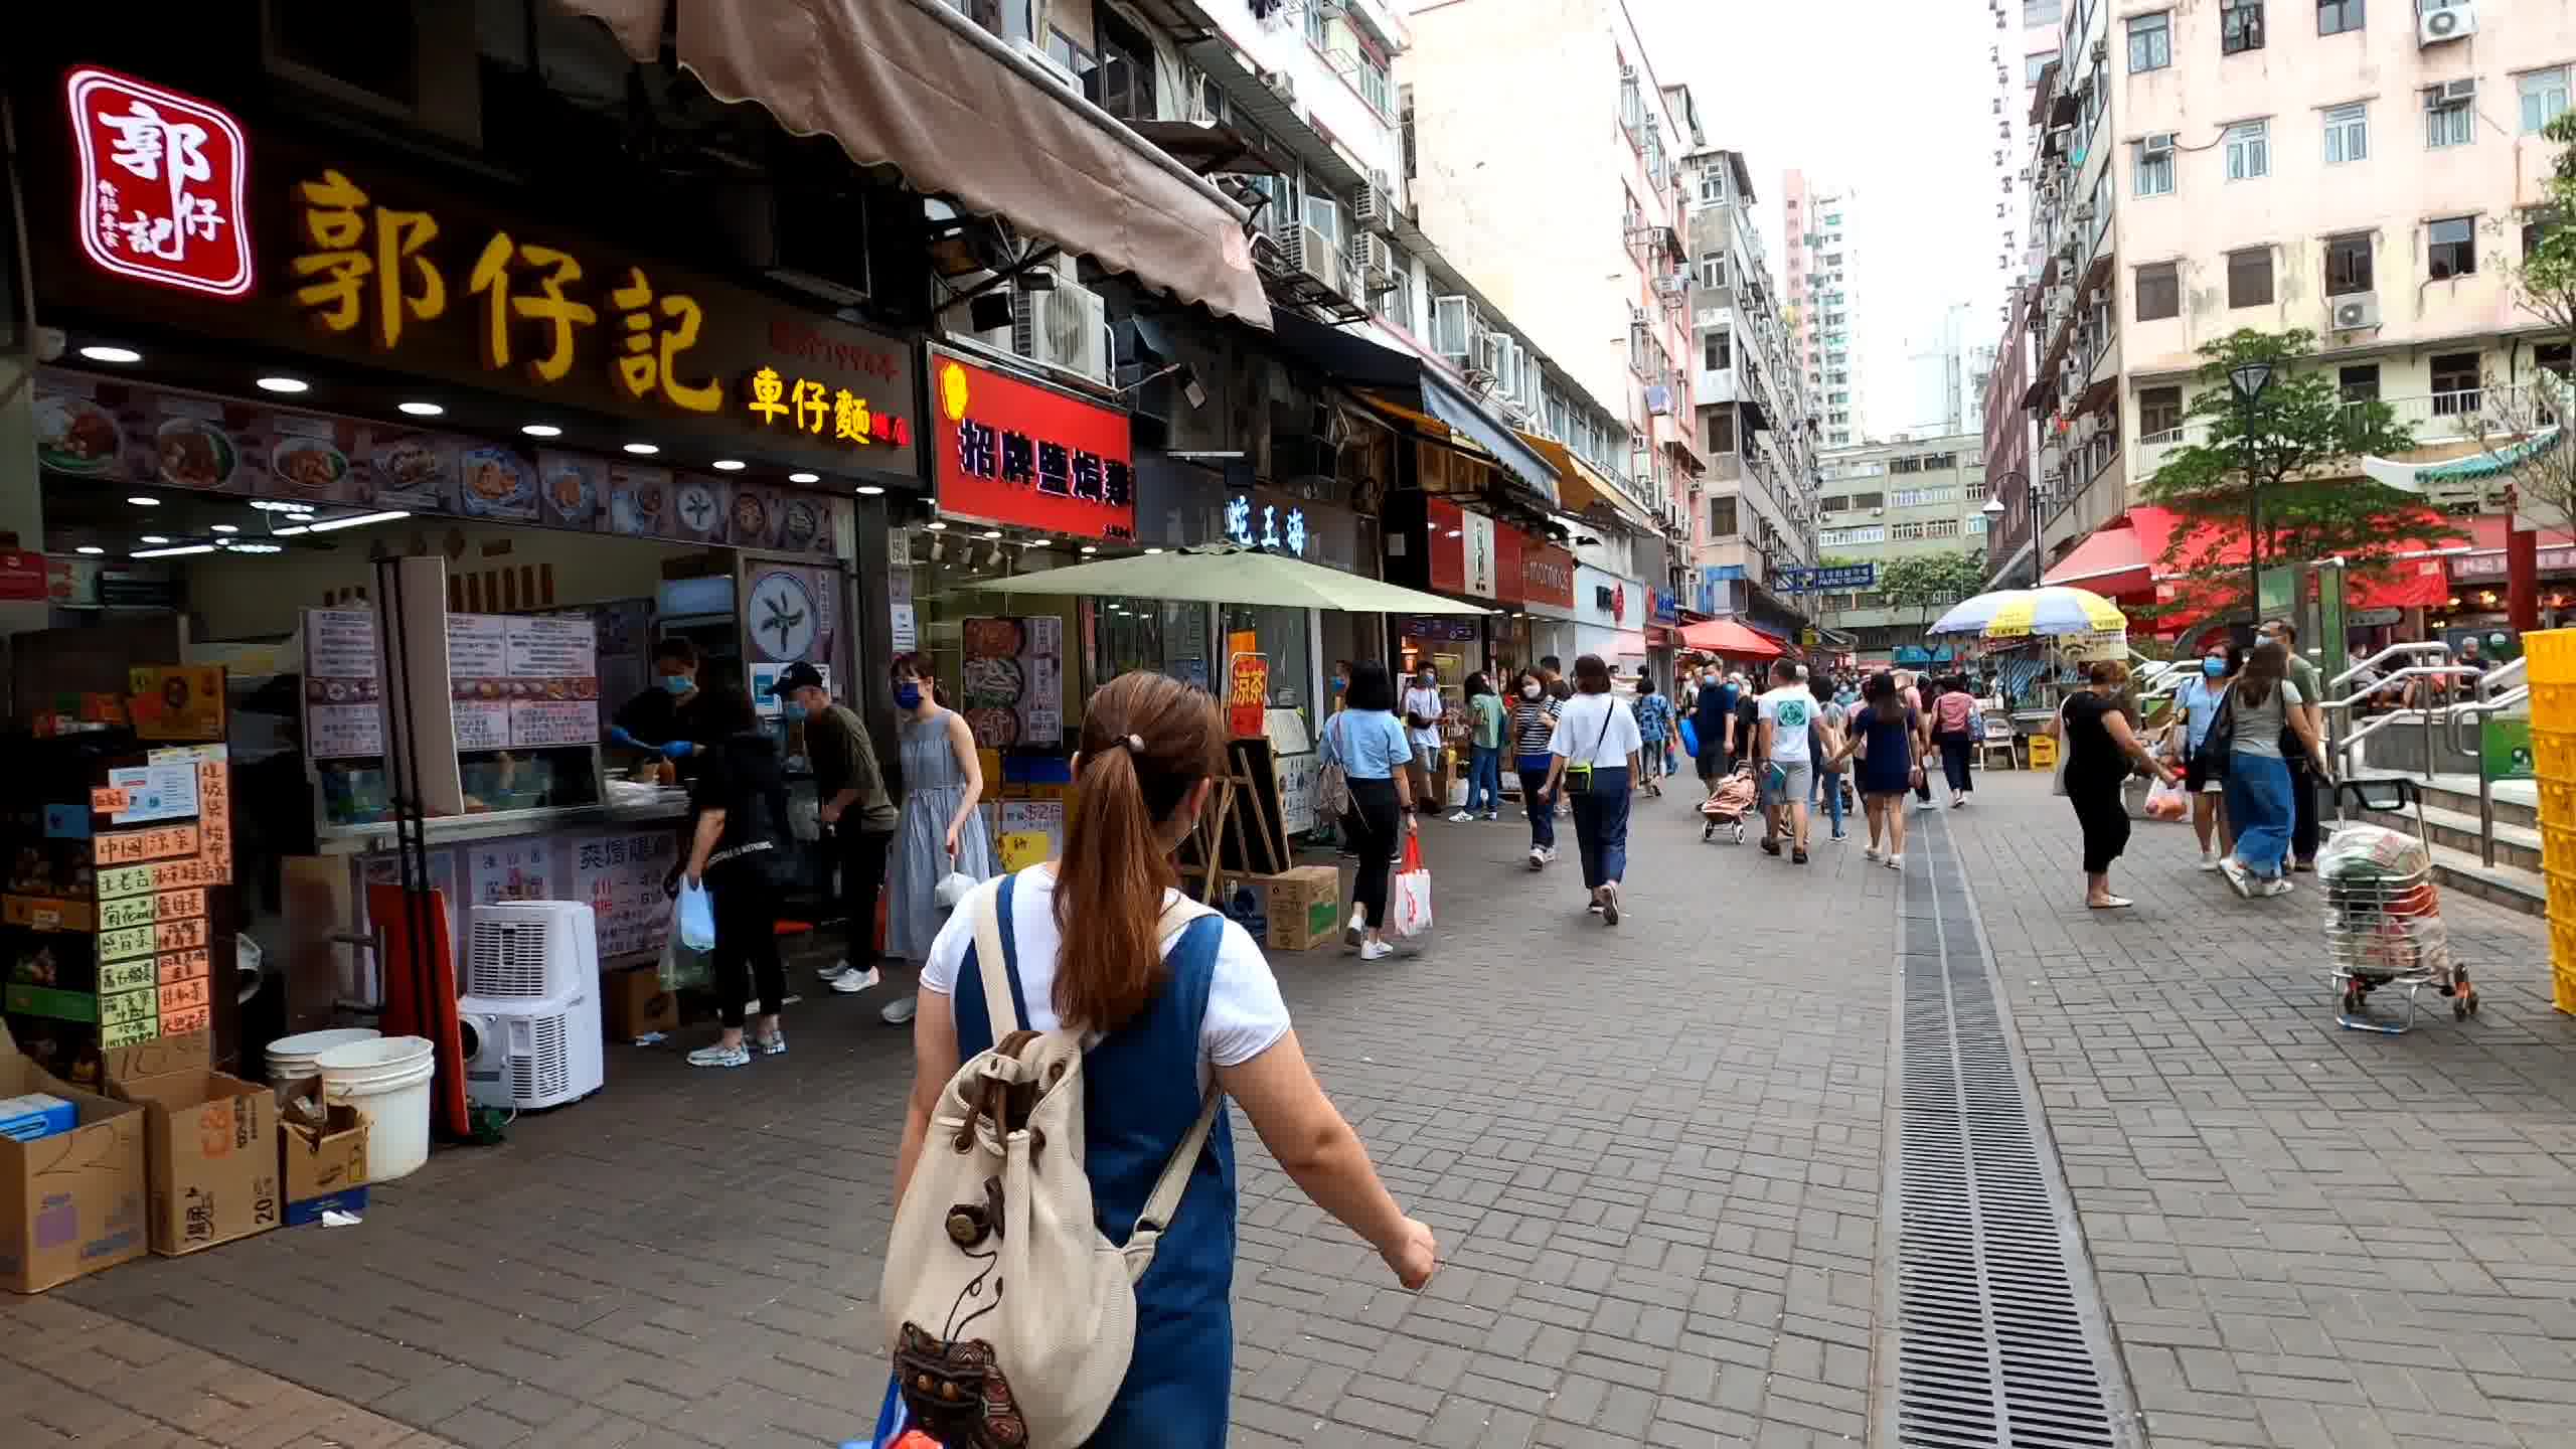
[[[662,54],[719,101],[824,134],[863,168],[1084,255],[1221,317],[1270,327],[1244,209],[940,0],[556,0],[629,57]]]

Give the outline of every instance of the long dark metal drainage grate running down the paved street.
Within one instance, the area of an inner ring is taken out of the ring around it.
[[[2125,1449],[2138,1441],[2128,1385],[1947,820],[1914,820],[1899,936],[1896,1441]]]

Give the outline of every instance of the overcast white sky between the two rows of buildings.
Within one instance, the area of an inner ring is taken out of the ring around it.
[[[1780,178],[1803,168],[1860,193],[1850,224],[1862,258],[1852,317],[1862,413],[1870,433],[1914,423],[1906,340],[1932,335],[1953,302],[1973,302],[1971,343],[2002,333],[1986,46],[2017,49],[2020,31],[1996,31],[1976,0],[1628,5],[1656,80],[1687,83],[1708,144],[1747,155],[1775,284],[1785,273]],[[2017,101],[2020,77],[2007,103]],[[2020,157],[2012,165],[2020,170]]]

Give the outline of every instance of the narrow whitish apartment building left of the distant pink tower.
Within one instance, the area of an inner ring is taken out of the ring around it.
[[[1703,150],[1690,178],[1692,402],[1708,449],[1692,590],[1705,614],[1793,611],[1770,583],[1816,562],[1816,413],[1754,217],[1744,152]]]

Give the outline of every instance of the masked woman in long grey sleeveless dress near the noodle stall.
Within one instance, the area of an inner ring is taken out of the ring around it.
[[[940,933],[940,882],[948,874],[992,879],[999,864],[984,815],[976,812],[976,802],[984,799],[984,766],[966,717],[940,709],[930,696],[927,663],[920,655],[896,655],[886,676],[894,681],[894,737],[904,768],[886,949],[907,962],[922,962]],[[886,1006],[884,1016],[889,1026],[902,1026],[912,1021],[912,1011],[914,998],[907,995]]]

